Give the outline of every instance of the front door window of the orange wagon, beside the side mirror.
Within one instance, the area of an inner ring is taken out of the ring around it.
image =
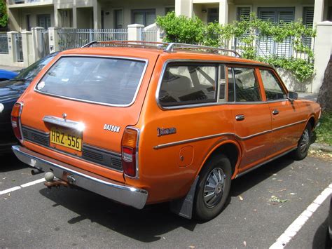
[[[267,100],[284,100],[286,93],[280,86],[279,80],[270,70],[260,69],[261,78]]]

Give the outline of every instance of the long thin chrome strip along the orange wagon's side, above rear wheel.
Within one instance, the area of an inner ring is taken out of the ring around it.
[[[175,146],[175,145],[179,145],[179,144],[186,144],[188,142],[197,142],[197,141],[200,141],[200,140],[207,140],[207,139],[214,138],[214,137],[221,137],[223,135],[233,135],[233,136],[237,137],[240,140],[247,140],[247,139],[252,138],[252,137],[256,137],[256,136],[259,136],[259,135],[264,135],[266,133],[272,133],[273,131],[280,130],[280,129],[283,129],[283,128],[287,128],[289,126],[295,126],[298,123],[304,123],[304,122],[306,122],[306,120],[298,121],[298,122],[295,122],[295,123],[289,123],[286,126],[280,126],[278,128],[274,128],[272,130],[264,130],[260,133],[255,133],[255,134],[249,135],[247,137],[240,137],[239,135],[237,135],[235,133],[217,133],[217,134],[213,134],[213,135],[195,137],[195,138],[191,138],[191,139],[187,139],[187,140],[180,140],[180,141],[177,141],[177,142],[169,142],[167,144],[158,144],[155,147],[153,147],[153,149],[162,149],[162,148],[171,147],[171,146]]]

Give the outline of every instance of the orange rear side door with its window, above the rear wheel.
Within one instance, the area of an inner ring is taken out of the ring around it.
[[[270,109],[254,67],[228,67],[228,102],[233,104],[235,134],[243,149],[241,172],[263,161],[271,129]]]

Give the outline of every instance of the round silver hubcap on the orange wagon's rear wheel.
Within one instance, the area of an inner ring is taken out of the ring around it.
[[[214,168],[205,181],[203,192],[204,202],[208,208],[213,208],[219,203],[225,189],[226,175],[221,168]]]

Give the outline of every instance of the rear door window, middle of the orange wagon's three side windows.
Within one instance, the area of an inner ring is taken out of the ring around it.
[[[254,68],[234,67],[235,102],[256,102],[261,101],[258,80]],[[231,81],[229,84],[231,86]],[[231,91],[231,89],[230,89]],[[230,92],[230,95],[232,93]]]

